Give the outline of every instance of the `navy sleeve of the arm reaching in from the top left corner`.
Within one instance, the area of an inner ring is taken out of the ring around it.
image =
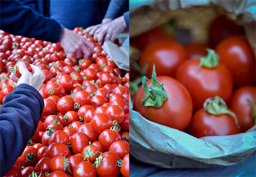
[[[57,43],[61,26],[17,0],[0,0],[0,29],[10,34]]]

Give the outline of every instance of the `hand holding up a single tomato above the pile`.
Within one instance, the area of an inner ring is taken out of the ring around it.
[[[44,72],[38,66],[30,66],[34,74],[28,71],[24,62],[17,63],[21,76],[19,78],[14,73],[11,73],[10,79],[17,83],[17,86],[26,83],[39,91],[43,87],[43,82],[45,80]]]

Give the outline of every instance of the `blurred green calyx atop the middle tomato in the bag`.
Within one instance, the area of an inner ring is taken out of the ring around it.
[[[201,66],[204,66],[207,68],[215,68],[216,66],[218,66],[218,63],[219,63],[218,55],[215,54],[215,51],[212,49],[207,49],[207,51],[208,51],[208,55],[200,58],[198,69],[200,69]]]

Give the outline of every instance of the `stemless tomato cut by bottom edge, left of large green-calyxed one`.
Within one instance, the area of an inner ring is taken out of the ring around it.
[[[78,163],[73,170],[74,177],[96,177],[97,171],[92,163],[83,161]]]

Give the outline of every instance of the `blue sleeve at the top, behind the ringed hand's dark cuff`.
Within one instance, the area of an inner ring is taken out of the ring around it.
[[[115,19],[129,10],[128,0],[111,0],[104,18]]]

